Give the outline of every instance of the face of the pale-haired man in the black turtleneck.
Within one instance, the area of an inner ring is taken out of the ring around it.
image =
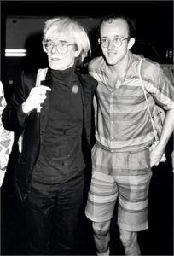
[[[65,70],[68,67],[73,67],[75,58],[78,57],[80,51],[76,49],[73,35],[71,33],[52,34],[47,38],[47,41],[53,46],[47,51],[49,67],[55,70]],[[59,47],[57,49],[55,44],[60,41],[70,44],[67,46],[67,52],[61,53]],[[44,49],[45,50],[45,49]]]

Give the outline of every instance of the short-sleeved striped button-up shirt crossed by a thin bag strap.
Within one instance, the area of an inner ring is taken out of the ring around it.
[[[114,151],[147,148],[154,139],[148,106],[138,75],[142,57],[129,53],[123,79],[111,83],[103,57],[90,61],[89,73],[98,81],[94,100],[96,143]],[[155,102],[165,110],[174,108],[174,87],[158,63],[142,61],[142,82],[151,113]]]

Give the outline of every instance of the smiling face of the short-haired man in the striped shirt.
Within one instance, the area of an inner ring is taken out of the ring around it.
[[[116,65],[124,61],[129,49],[133,46],[134,38],[129,38],[129,28],[124,19],[118,18],[111,22],[103,21],[101,26],[101,39],[109,40],[107,47],[102,46],[102,53],[106,58],[108,65]],[[121,46],[116,47],[113,45],[114,38],[125,39],[122,41]]]

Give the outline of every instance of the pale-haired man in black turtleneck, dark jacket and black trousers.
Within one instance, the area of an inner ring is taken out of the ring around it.
[[[14,185],[25,206],[29,255],[73,255],[97,81],[77,69],[90,53],[90,40],[77,20],[47,20],[43,48],[46,78],[36,87],[36,73],[23,73],[3,125],[24,131]]]

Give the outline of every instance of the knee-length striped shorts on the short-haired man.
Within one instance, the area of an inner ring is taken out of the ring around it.
[[[119,227],[127,231],[148,229],[148,188],[152,177],[149,149],[111,153],[95,145],[92,167],[87,218],[94,222],[110,220],[119,198]]]

